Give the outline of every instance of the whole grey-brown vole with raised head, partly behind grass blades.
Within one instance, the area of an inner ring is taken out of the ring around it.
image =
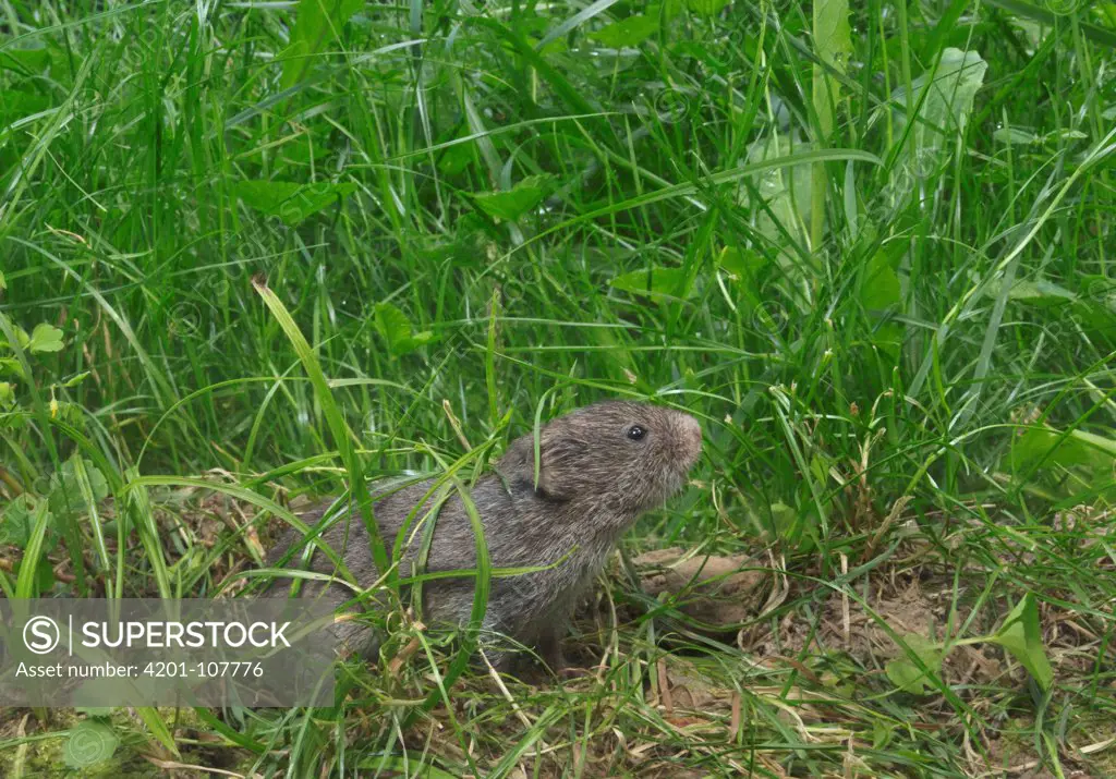
[[[493,470],[471,489],[491,566],[552,567],[492,577],[484,634],[502,634],[535,646],[550,669],[560,672],[559,642],[578,597],[636,518],[662,506],[683,487],[701,446],[701,427],[689,414],[632,401],[596,403],[543,425],[539,430],[537,474],[533,431],[513,441]],[[475,568],[473,529],[461,496],[450,488],[441,509],[431,511],[436,498],[426,496],[434,482],[420,481],[394,491],[373,487],[375,522],[388,554],[412,514],[404,536],[401,577],[411,575],[431,521],[436,523],[424,570]],[[312,527],[327,509],[311,510],[302,519]],[[360,586],[369,587],[379,578],[368,533],[355,510],[343,510],[321,539],[344,559]],[[275,566],[301,540],[300,532],[288,530],[269,555],[269,565]],[[329,574],[334,564],[316,549],[310,568]],[[427,624],[466,624],[473,581],[472,577],[425,581],[423,618]],[[304,597],[324,595],[335,607],[354,597],[352,589],[339,585],[325,592],[321,584],[305,585]],[[277,581],[269,595],[288,592],[286,581]],[[358,622],[341,622],[336,628],[350,648],[365,654],[375,651],[376,637]],[[487,656],[508,667],[507,652],[489,641],[482,646]]]

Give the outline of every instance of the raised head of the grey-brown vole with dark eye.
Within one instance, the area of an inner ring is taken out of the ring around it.
[[[498,465],[540,498],[577,501],[622,516],[662,506],[685,483],[701,454],[701,427],[689,414],[632,401],[606,401],[560,416],[516,440]]]

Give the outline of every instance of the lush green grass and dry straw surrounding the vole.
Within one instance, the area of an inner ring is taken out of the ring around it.
[[[606,396],[705,431],[626,556],[756,584],[711,634],[617,565],[594,676],[449,703],[396,619],[336,709],[115,711],[79,773],[1116,773],[1116,15],[841,16],[0,0],[7,597],[208,596],[279,506]],[[969,641],[1018,604],[1047,690]],[[3,772],[89,719],[0,712]]]

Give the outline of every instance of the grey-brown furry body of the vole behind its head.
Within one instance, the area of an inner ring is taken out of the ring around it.
[[[434,480],[421,481],[387,494],[375,494],[374,516],[388,555],[396,536],[408,514],[434,484]],[[427,499],[410,520],[403,539],[405,550],[400,562],[400,577],[412,575],[412,566],[423,546],[423,535],[427,523],[435,522],[426,573],[475,569],[477,545],[473,526],[461,496],[451,489],[450,497],[434,516],[427,517],[437,502],[437,494]],[[490,579],[488,610],[483,624],[485,631],[510,635],[530,644],[537,639],[542,627],[555,621],[562,621],[573,607],[573,598],[581,586],[591,579],[594,573],[607,556],[613,538],[587,533],[584,528],[562,521],[560,514],[539,516],[538,498],[525,484],[507,483],[496,475],[482,478],[470,492],[484,531],[489,560],[492,568],[538,568],[562,560],[561,565],[537,573],[514,576],[496,576]],[[311,527],[317,523],[327,506],[319,507],[301,517]],[[290,546],[301,539],[297,531],[288,531],[276,549],[269,555],[269,565],[275,565]],[[339,516],[321,535],[337,552],[349,573],[363,587],[368,587],[379,578],[379,571],[372,557],[367,530],[356,510],[341,509]],[[297,555],[295,556],[297,558]],[[565,558],[565,560],[562,559]],[[288,566],[294,565],[288,562]],[[310,569],[321,574],[335,574],[331,560],[315,550]],[[423,616],[431,624],[456,625],[466,623],[473,606],[474,577],[427,580],[423,584]],[[280,580],[269,592],[283,595],[286,583]],[[317,583],[304,585],[306,596],[326,597],[337,607],[356,594],[343,585],[328,589]],[[377,642],[362,626],[344,623],[338,637],[360,652],[375,650]]]

